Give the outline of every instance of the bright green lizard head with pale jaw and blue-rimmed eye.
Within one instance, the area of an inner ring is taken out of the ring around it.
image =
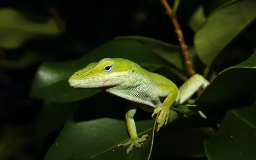
[[[75,88],[94,89],[118,86],[135,73],[136,64],[122,58],[104,58],[76,71],[68,80]]]

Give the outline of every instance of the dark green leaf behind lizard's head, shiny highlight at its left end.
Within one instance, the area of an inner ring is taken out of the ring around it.
[[[162,59],[150,49],[131,40],[115,40],[99,46],[84,57],[68,62],[41,64],[33,80],[30,97],[52,102],[73,102],[94,95],[99,90],[79,90],[68,84],[68,78],[91,62],[102,58],[125,58],[140,66],[165,67]]]

